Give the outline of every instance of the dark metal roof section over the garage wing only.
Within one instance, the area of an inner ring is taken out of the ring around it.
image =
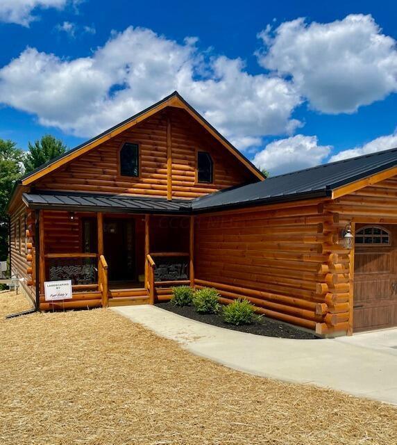
[[[262,182],[248,184],[196,198],[193,211],[245,207],[272,202],[326,197],[339,188],[397,165],[397,148],[343,161],[317,165]]]

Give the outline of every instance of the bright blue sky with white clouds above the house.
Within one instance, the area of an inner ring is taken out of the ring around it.
[[[0,1],[0,138],[69,147],[178,89],[273,175],[397,146],[397,6]]]

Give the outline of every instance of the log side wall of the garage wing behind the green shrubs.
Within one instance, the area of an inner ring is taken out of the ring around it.
[[[328,314],[348,300],[338,297],[348,292],[348,270],[331,254],[337,230],[321,205],[199,216],[195,284],[215,284],[222,302],[244,296],[258,312],[319,334],[346,332],[344,317]]]

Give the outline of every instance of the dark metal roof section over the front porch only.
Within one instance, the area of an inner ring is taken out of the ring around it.
[[[23,193],[22,200],[29,209],[67,211],[105,211],[118,213],[189,213],[187,200],[167,201],[162,198],[95,193],[40,192]]]

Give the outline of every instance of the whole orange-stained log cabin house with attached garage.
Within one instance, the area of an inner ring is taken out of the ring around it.
[[[320,336],[393,326],[396,175],[391,149],[265,179],[174,92],[16,184],[12,275],[44,311],[189,284]]]

